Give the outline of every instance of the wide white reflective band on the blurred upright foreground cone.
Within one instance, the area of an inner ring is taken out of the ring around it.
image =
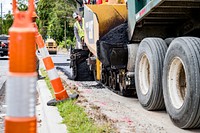
[[[35,116],[37,74],[8,75],[6,88],[7,116]]]

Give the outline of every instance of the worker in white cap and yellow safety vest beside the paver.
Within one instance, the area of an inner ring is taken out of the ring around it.
[[[74,35],[76,37],[76,49],[83,49],[84,45],[84,18],[78,13],[73,13],[73,18],[76,19],[74,23]]]

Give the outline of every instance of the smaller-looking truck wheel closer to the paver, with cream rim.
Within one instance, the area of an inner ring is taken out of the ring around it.
[[[136,92],[147,110],[164,109],[162,68],[167,45],[160,38],[145,38],[139,45],[135,66]]]

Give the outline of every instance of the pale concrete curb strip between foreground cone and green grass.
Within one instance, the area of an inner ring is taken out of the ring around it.
[[[47,106],[52,95],[44,80],[37,81],[37,132],[38,133],[67,133],[67,127],[62,124],[57,107]]]

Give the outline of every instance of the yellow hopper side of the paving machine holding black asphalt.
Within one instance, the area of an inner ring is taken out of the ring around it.
[[[101,5],[85,5],[85,14],[87,12],[92,12],[93,16],[93,27],[90,27],[93,30],[88,28],[85,30],[85,42],[90,50],[96,57],[96,42],[101,38],[103,35],[108,33],[114,27],[124,23],[127,21],[128,11],[125,4],[101,4]],[[87,23],[87,22],[86,22]],[[89,23],[89,21],[88,21]],[[89,25],[89,24],[86,24]],[[87,27],[87,26],[86,26]],[[94,31],[94,35],[92,32]],[[87,37],[92,37],[94,41],[90,43]],[[101,62],[96,59],[96,79],[101,79]]]

